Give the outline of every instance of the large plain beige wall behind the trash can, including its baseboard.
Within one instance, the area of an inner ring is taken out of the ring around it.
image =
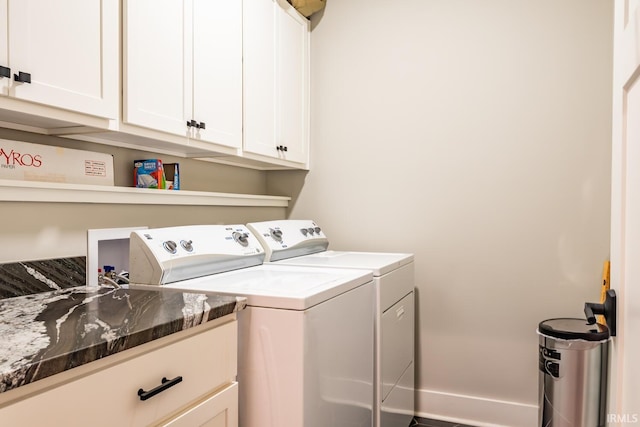
[[[311,171],[269,190],[334,249],[415,253],[421,414],[533,427],[536,326],[582,316],[609,256],[612,2],[330,0],[312,23]]]

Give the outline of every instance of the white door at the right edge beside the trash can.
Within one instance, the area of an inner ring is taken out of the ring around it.
[[[611,284],[618,294],[609,425],[640,422],[640,9],[616,0]]]

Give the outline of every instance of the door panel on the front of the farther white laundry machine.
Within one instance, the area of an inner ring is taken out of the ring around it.
[[[413,361],[414,312],[414,293],[411,292],[382,315],[381,400],[386,399]]]

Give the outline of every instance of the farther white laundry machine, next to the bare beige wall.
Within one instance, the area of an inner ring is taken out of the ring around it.
[[[276,265],[368,269],[375,288],[374,426],[408,426],[414,415],[415,293],[412,254],[329,251],[309,220],[247,224]]]

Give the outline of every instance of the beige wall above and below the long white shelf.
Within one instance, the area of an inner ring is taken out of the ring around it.
[[[109,147],[26,132],[0,129],[0,139],[98,151],[114,155],[116,185],[132,186],[133,160],[161,158],[180,163],[182,188],[242,194],[266,194],[265,172],[193,159]],[[0,263],[86,255],[87,229],[231,224],[277,219],[284,208],[147,206],[78,203],[0,202],[3,229]]]

